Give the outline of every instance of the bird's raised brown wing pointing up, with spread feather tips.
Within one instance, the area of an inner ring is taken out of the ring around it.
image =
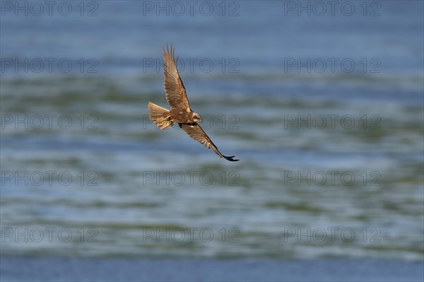
[[[181,110],[185,109],[189,112],[189,100],[187,99],[184,84],[182,84],[182,80],[179,78],[177,65],[174,60],[174,48],[171,45],[171,50],[168,47],[166,47],[166,51],[165,48],[162,49],[163,60],[165,61],[165,64],[163,65],[163,86],[165,87],[166,100],[171,107],[179,108]]]

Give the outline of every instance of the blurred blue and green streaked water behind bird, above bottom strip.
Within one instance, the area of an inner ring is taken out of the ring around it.
[[[1,1],[1,256],[423,260],[422,1]],[[177,127],[162,47],[231,163]]]

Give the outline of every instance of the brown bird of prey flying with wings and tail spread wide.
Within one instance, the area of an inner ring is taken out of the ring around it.
[[[166,51],[165,48],[162,49],[163,59],[165,60],[163,65],[165,77],[163,84],[166,100],[171,110],[155,105],[153,102],[148,102],[148,113],[151,121],[162,130],[170,128],[174,123],[177,123],[192,139],[204,144],[206,148],[211,148],[220,158],[225,158],[232,162],[237,161],[234,159],[234,155],[228,157],[221,154],[205,131],[201,129],[197,123],[201,122],[201,117],[190,108],[184,84],[179,78],[177,64],[174,60],[174,48],[171,45],[171,49],[168,47],[166,47]]]

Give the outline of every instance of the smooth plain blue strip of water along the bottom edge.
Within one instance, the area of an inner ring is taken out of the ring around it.
[[[25,265],[25,269],[22,267]],[[53,267],[52,267],[53,266]],[[422,281],[419,262],[7,258],[2,281]],[[17,270],[19,269],[19,270]]]

